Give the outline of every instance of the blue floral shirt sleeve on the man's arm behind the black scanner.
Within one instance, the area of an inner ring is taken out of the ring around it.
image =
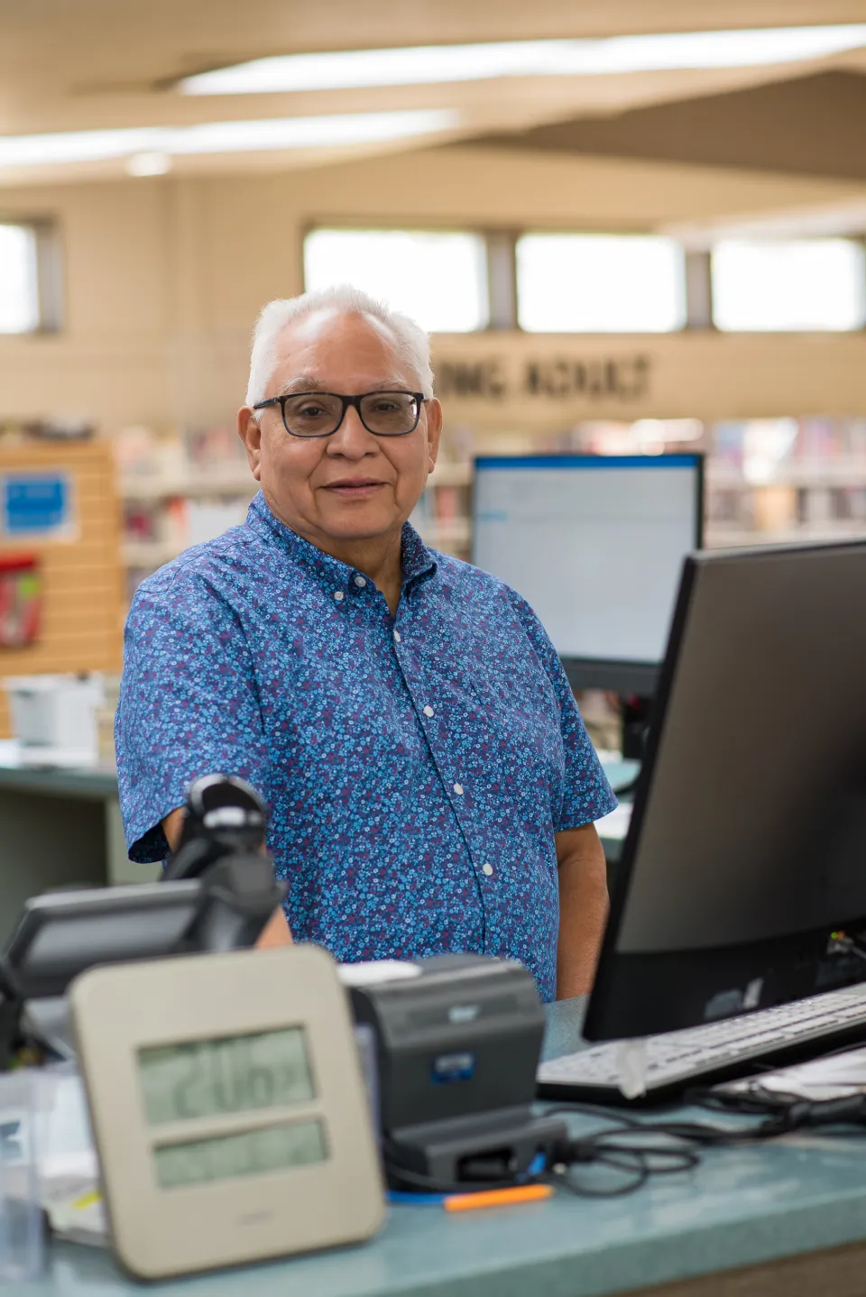
[[[198,573],[163,569],[137,590],[123,637],[114,720],[130,859],[162,860],[161,821],[204,774],[263,792],[266,747],[242,626]]]

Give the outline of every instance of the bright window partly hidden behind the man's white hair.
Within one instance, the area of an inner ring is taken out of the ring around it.
[[[430,333],[487,326],[480,235],[421,230],[314,230],[303,243],[307,289],[353,284]]]

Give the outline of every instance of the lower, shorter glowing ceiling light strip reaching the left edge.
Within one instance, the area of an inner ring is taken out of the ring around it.
[[[118,131],[65,131],[58,135],[0,135],[0,167],[102,162],[131,156],[340,148],[430,135],[450,130],[458,121],[459,114],[451,109],[432,109],[281,117],[261,122],[202,122],[198,126],[144,126]]]

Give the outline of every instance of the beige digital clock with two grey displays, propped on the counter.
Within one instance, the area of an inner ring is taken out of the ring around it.
[[[134,1275],[368,1237],[382,1184],[345,991],[314,946],[92,969],[70,1003]]]

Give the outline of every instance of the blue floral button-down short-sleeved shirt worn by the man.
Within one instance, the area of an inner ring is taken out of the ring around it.
[[[270,805],[297,939],[341,961],[511,956],[556,995],[554,834],[616,799],[529,606],[403,528],[397,616],[259,494],[137,590],[115,739],[132,860],[202,774]]]

